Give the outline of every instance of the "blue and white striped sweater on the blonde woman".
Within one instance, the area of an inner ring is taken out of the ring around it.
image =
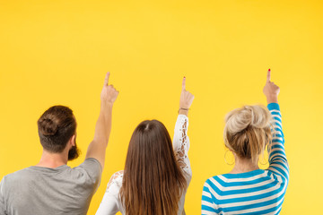
[[[275,129],[268,146],[269,168],[207,179],[202,194],[202,214],[279,214],[281,211],[289,179],[282,116],[278,104],[271,103],[267,107]]]

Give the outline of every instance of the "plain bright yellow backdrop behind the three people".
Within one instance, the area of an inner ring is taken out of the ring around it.
[[[224,163],[223,117],[265,103],[266,70],[281,87],[291,168],[282,214],[321,210],[322,1],[0,1],[0,178],[39,161],[36,121],[71,107],[77,142],[92,141],[107,71],[120,91],[94,214],[109,177],[124,167],[130,136],[144,119],[173,134],[181,79],[195,96],[189,113],[193,179],[186,211],[199,214],[205,179]]]

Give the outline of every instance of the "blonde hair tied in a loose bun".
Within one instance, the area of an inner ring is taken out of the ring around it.
[[[225,116],[224,144],[242,159],[258,164],[258,157],[272,140],[272,117],[264,106],[244,106]]]

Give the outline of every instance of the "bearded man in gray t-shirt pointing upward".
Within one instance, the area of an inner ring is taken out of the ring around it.
[[[76,120],[64,106],[50,107],[38,120],[43,153],[39,163],[7,176],[0,183],[0,215],[86,214],[100,185],[105,151],[111,131],[112,107],[118,91],[107,73],[100,94],[100,116],[86,158],[76,168]]]

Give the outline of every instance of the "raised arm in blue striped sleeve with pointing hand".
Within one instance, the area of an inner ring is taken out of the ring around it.
[[[289,167],[284,150],[284,133],[282,125],[282,115],[278,105],[279,87],[271,82],[271,72],[268,70],[264,94],[266,95],[268,109],[273,117],[273,139],[268,145],[269,170],[283,176],[288,180]]]

